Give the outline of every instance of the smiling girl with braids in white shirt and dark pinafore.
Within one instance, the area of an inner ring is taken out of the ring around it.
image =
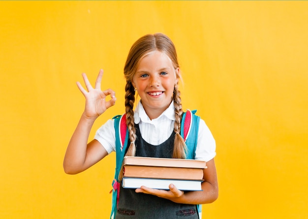
[[[116,102],[111,89],[100,90],[103,71],[92,88],[86,74],[86,91],[77,86],[86,98],[85,110],[68,144],[63,167],[67,174],[80,173],[116,151],[114,120],[108,120],[88,143],[95,119]],[[180,135],[182,104],[178,82],[181,78],[175,46],[162,33],[148,34],[131,47],[125,66],[125,113],[129,131],[126,156],[185,158],[185,143]],[[133,111],[135,94],[140,102]],[[111,99],[106,101],[110,95]],[[120,188],[116,219],[198,219],[196,205],[211,203],[218,196],[215,140],[200,120],[195,159],[207,161],[202,191],[181,191],[141,187]],[[114,217],[114,215],[112,216]]]

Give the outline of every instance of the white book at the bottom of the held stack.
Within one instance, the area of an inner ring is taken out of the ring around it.
[[[151,179],[151,178],[123,178],[123,188],[148,188],[169,190],[169,185],[173,184],[179,190],[201,191],[201,183],[198,180],[174,180],[174,179]]]

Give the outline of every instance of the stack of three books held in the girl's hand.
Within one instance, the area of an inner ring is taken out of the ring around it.
[[[125,156],[122,186],[169,189],[173,184],[179,190],[202,190],[205,168],[202,160]]]

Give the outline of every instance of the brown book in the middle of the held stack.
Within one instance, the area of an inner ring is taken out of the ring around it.
[[[185,167],[124,165],[123,177],[202,180],[203,170]]]

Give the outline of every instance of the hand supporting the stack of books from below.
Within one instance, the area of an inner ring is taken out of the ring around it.
[[[176,200],[181,199],[182,196],[184,195],[184,191],[179,190],[173,184],[169,185],[169,189],[170,190],[162,190],[162,189],[147,188],[142,186],[141,188],[137,188],[135,191],[137,193],[143,192],[146,194],[156,195],[160,198],[166,198],[174,202],[177,202]]]

